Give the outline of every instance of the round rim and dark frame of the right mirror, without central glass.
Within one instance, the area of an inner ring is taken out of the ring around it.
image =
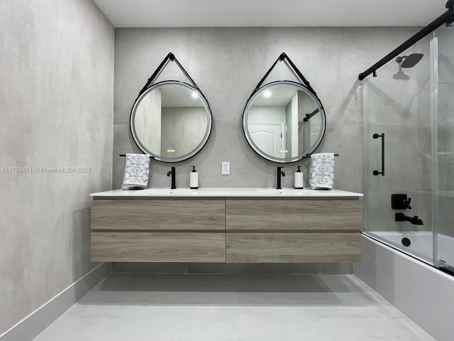
[[[249,134],[249,130],[248,130],[248,112],[249,112],[250,107],[252,107],[253,100],[255,98],[257,98],[262,93],[262,91],[266,90],[269,87],[273,87],[275,85],[278,85],[278,84],[294,85],[295,87],[299,87],[299,89],[301,89],[304,92],[306,92],[306,94],[308,94],[309,97],[311,97],[311,99],[314,100],[314,102],[316,103],[317,107],[319,107],[319,112],[321,113],[321,121],[322,121],[323,131],[320,134],[319,139],[317,139],[317,141],[314,144],[314,146],[311,146],[311,148],[308,151],[304,151],[303,154],[298,155],[298,156],[293,157],[293,158],[276,158],[274,156],[268,155],[267,153],[264,153],[254,143],[252,137]],[[243,133],[245,135],[246,140],[248,141],[249,146],[251,148],[253,148],[255,153],[258,153],[260,156],[262,156],[262,158],[266,158],[267,160],[270,160],[270,161],[273,161],[273,162],[277,162],[277,163],[293,163],[293,162],[300,161],[303,158],[309,157],[311,155],[311,153],[313,153],[316,150],[316,148],[321,144],[321,141],[323,140],[323,136],[325,136],[325,131],[326,131],[326,114],[325,114],[325,110],[323,109],[323,105],[321,104],[319,98],[316,97],[314,92],[312,92],[311,90],[309,90],[307,87],[305,87],[304,85],[302,85],[299,82],[293,82],[291,80],[278,80],[276,82],[267,83],[266,85],[263,85],[262,87],[258,88],[257,90],[255,90],[253,92],[253,94],[249,97],[248,102],[246,102],[245,108],[243,110]]]

